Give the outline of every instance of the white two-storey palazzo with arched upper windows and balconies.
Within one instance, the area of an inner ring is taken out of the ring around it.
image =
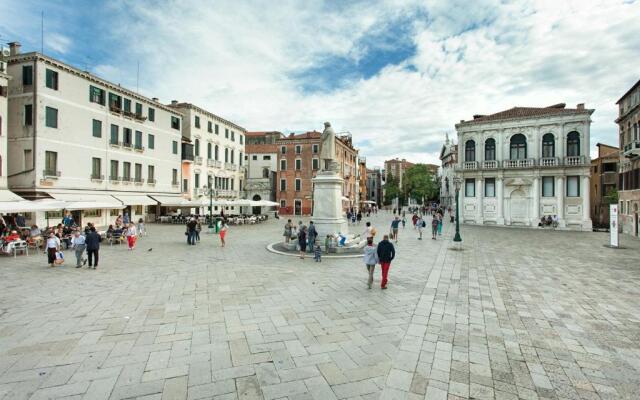
[[[589,129],[594,110],[578,104],[514,107],[456,124],[461,220],[591,230]]]

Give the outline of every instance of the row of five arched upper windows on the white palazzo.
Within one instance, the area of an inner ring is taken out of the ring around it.
[[[576,131],[567,134],[567,157],[580,155],[580,134]],[[542,136],[542,157],[556,156],[556,141],[553,133]],[[523,160],[527,158],[527,138],[523,134],[513,135],[509,143],[509,159]],[[476,161],[476,142],[472,139],[464,143],[464,160]],[[484,160],[496,160],[496,140],[489,138],[484,142]]]

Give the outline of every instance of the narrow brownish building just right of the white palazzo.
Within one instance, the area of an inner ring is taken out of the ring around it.
[[[596,144],[598,157],[591,160],[591,221],[594,227],[609,227],[611,194],[618,187],[620,151],[615,146]]]

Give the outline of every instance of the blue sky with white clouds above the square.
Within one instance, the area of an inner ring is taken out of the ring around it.
[[[615,102],[640,79],[640,0],[0,0],[0,15],[2,42],[249,131],[330,121],[369,166],[439,164],[456,122],[514,106],[585,103],[592,149],[617,145]]]

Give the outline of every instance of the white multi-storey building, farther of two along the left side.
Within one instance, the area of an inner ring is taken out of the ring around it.
[[[239,199],[244,187],[246,130],[191,103],[174,100],[169,107],[183,115],[185,156],[181,187],[184,196],[194,204],[206,204],[211,180],[214,199]],[[193,157],[188,156],[191,153]],[[237,214],[240,207],[225,206],[224,210]],[[219,207],[214,206],[213,212],[219,211]]]

